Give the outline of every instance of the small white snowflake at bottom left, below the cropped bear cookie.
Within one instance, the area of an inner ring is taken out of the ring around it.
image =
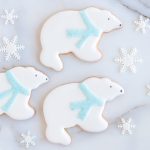
[[[30,146],[35,146],[35,139],[36,136],[32,136],[30,131],[28,131],[26,134],[21,134],[22,140],[20,141],[20,144],[24,144],[25,148],[28,149]]]

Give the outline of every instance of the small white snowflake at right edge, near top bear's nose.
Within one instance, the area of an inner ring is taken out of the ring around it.
[[[134,21],[135,25],[137,26],[136,31],[141,30],[142,33],[146,33],[146,29],[150,29],[149,21],[149,18],[144,19],[143,16],[139,16],[139,19]]]

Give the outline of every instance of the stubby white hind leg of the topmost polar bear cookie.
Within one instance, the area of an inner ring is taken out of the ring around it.
[[[46,50],[42,50],[40,54],[40,61],[43,65],[56,71],[63,69],[63,63],[59,57],[59,54],[46,53]]]

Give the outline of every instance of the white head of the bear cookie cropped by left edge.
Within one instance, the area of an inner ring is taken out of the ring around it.
[[[10,70],[15,79],[27,89],[35,89],[48,81],[48,77],[33,67],[15,67]]]

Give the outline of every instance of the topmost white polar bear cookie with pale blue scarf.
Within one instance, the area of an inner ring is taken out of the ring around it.
[[[73,53],[81,60],[98,61],[97,45],[105,32],[121,27],[120,20],[107,10],[89,7],[81,11],[62,11],[50,17],[41,31],[43,65],[60,71],[60,54]]]

